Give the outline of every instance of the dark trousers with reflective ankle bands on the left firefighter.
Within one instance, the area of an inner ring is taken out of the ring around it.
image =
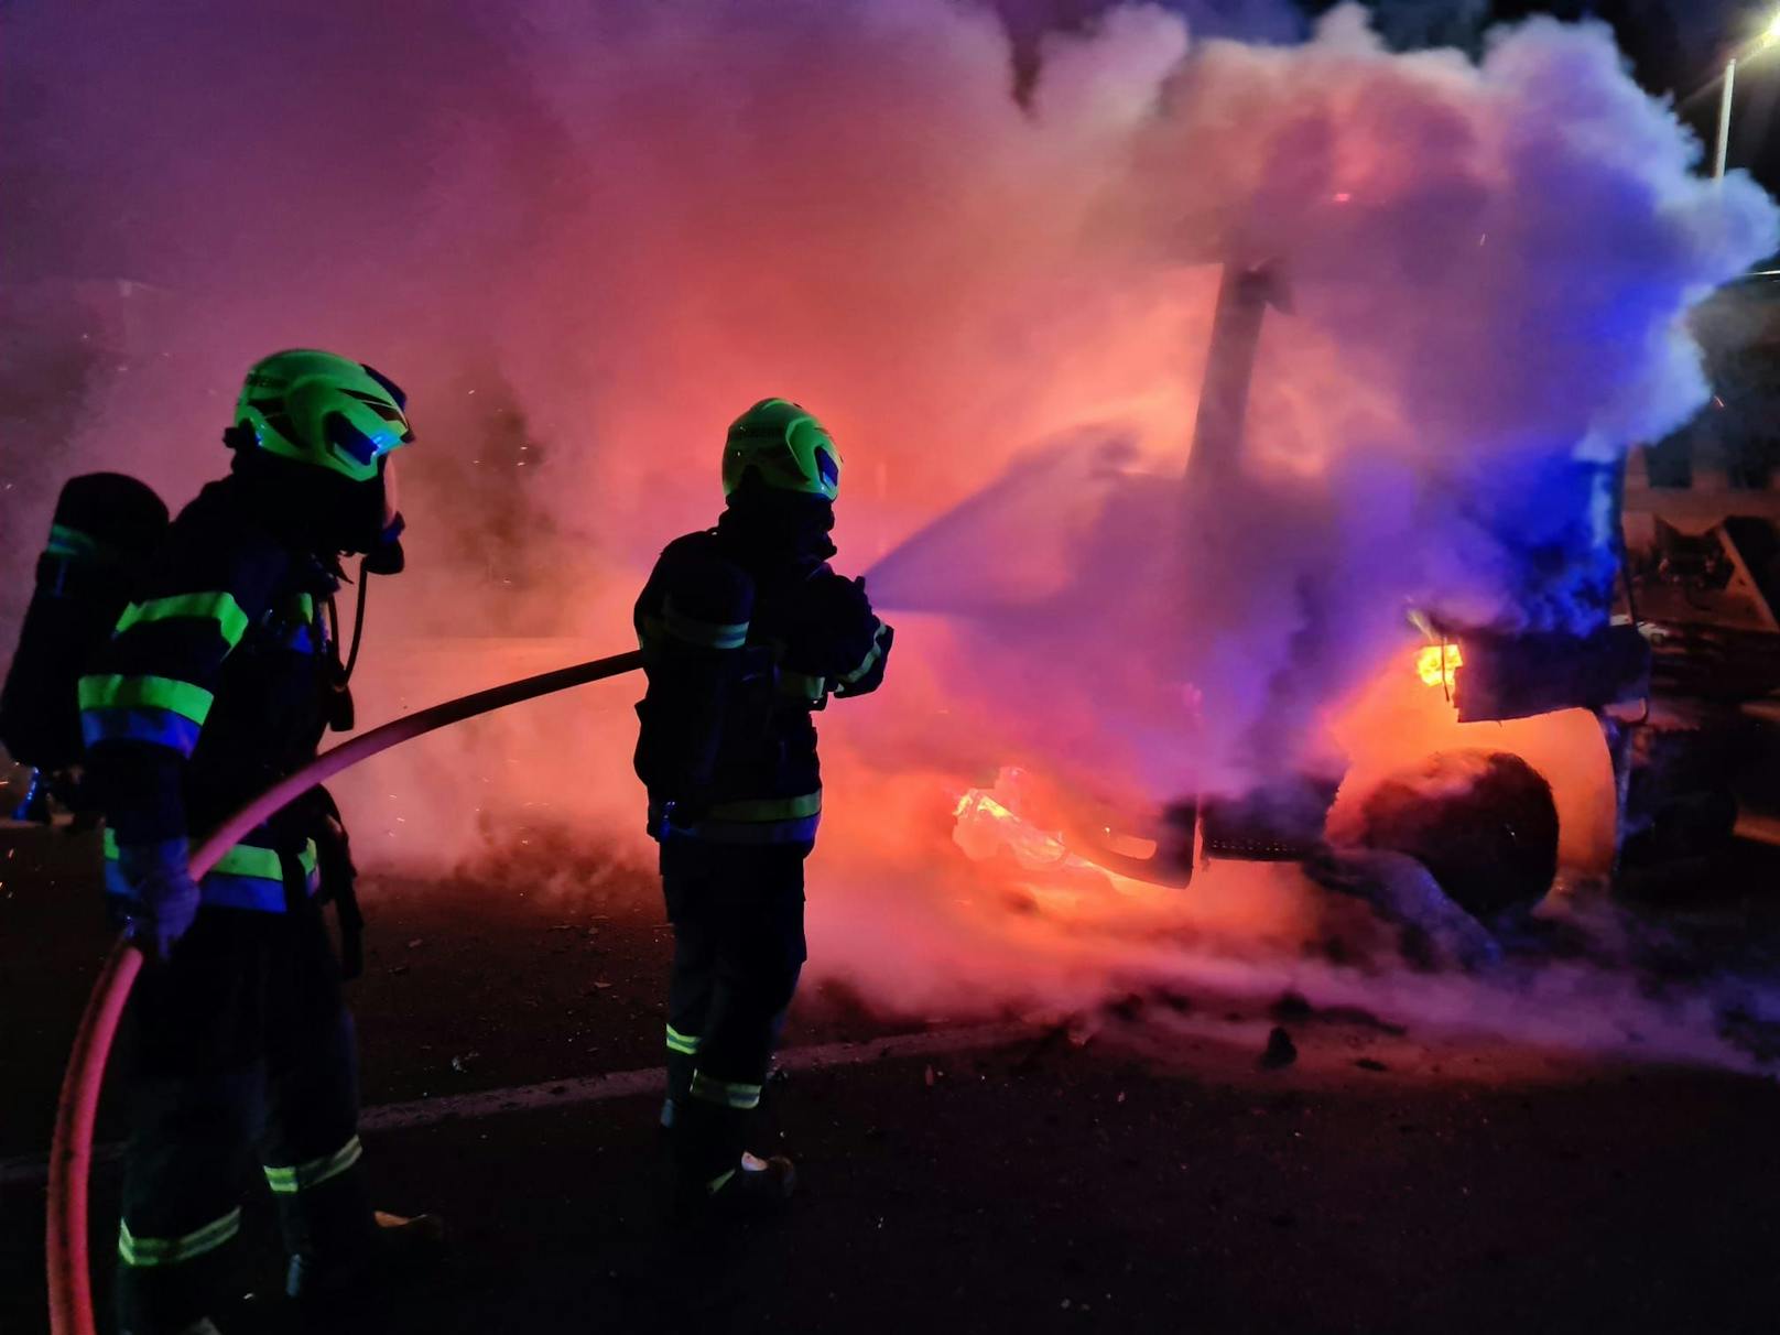
[[[201,910],[171,963],[142,970],[126,1034],[121,1331],[215,1310],[258,1173],[292,1255],[329,1262],[370,1242],[352,1020],[313,902]]]

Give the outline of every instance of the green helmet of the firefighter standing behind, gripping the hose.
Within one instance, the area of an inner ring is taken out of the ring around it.
[[[329,468],[354,482],[415,438],[408,395],[388,376],[351,358],[297,347],[253,365],[235,404],[244,447]]]

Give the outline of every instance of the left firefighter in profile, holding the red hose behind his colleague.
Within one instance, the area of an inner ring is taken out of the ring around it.
[[[320,789],[194,883],[190,846],[349,726],[331,598],[340,557],[400,568],[393,459],[406,399],[347,358],[288,351],[247,374],[230,475],[169,529],[137,602],[80,678],[107,819],[107,892],[150,963],[128,1016],[130,1143],[119,1328],[208,1331],[253,1153],[313,1305],[360,1287],[434,1219],[374,1216],[360,1169],[351,1016],[320,915],[351,904]],[[379,1225],[384,1228],[379,1230]]]

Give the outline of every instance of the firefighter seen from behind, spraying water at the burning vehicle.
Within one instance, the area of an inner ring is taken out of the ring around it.
[[[717,527],[673,541],[635,607],[648,691],[637,774],[675,929],[668,1102],[676,1198],[742,1210],[790,1196],[744,1152],[805,961],[803,865],[822,810],[812,712],[876,691],[892,630],[828,566],[840,450],[787,399],[730,427]]]

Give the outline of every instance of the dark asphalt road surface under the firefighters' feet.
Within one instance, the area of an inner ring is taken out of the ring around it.
[[[7,829],[0,858],[0,1331],[34,1331],[39,1161],[107,929],[91,840]],[[1762,1075],[1184,995],[1072,1029],[911,1029],[812,991],[765,1114],[806,1191],[685,1235],[662,1209],[650,886],[611,879],[573,913],[513,883],[372,879],[365,901],[367,1164],[452,1241],[331,1330],[1780,1330]],[[101,1290],[116,1191],[101,1164]],[[228,1331],[294,1330],[269,1230],[256,1200],[256,1298]]]

